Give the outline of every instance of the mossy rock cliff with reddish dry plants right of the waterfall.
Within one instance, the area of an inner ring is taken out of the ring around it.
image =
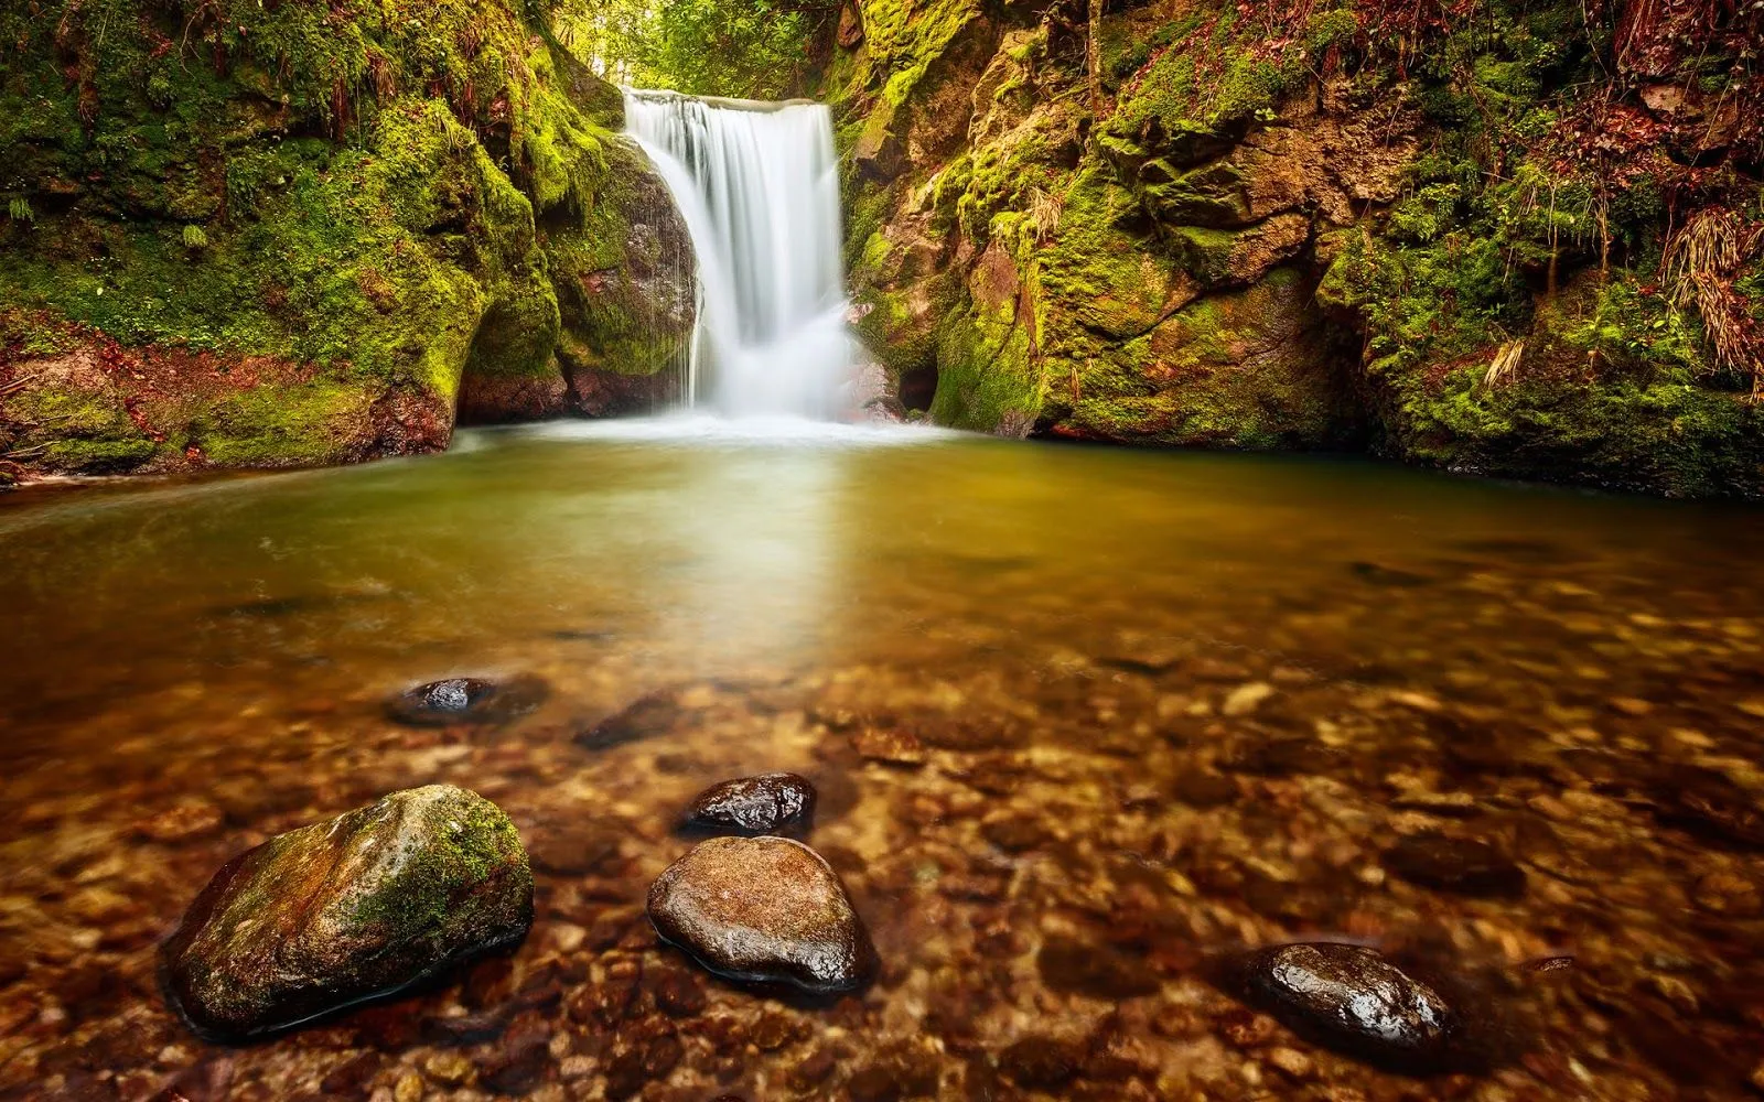
[[[863,0],[827,78],[861,324],[949,425],[1759,495],[1760,32]]]

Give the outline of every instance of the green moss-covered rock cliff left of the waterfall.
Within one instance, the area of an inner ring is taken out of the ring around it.
[[[455,411],[669,386],[686,233],[543,5],[14,4],[0,42],[5,478],[429,451]]]

